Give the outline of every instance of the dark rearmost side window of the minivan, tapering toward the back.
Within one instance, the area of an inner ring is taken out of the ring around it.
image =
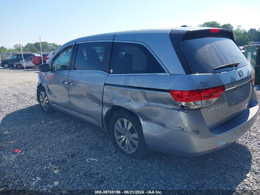
[[[145,46],[138,43],[114,42],[110,73],[165,73],[165,71]]]

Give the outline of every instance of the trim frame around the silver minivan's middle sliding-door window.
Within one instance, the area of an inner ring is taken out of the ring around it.
[[[112,42],[112,44],[113,44],[113,40],[92,40],[92,41],[76,42],[76,46],[75,46],[75,48],[74,48],[74,52],[73,52],[73,56],[72,56],[70,71],[102,72],[102,73],[105,73],[106,75],[108,75],[107,72],[104,72],[104,71],[101,71],[101,70],[74,70],[75,62],[76,62],[76,56],[77,56],[77,52],[78,52],[78,45],[79,45],[80,43],[93,43],[93,42]],[[111,51],[110,51],[110,58],[111,58],[111,54],[112,54],[112,49],[113,49],[113,45],[112,45],[112,48],[111,48]],[[109,58],[108,71],[110,70],[110,58]]]

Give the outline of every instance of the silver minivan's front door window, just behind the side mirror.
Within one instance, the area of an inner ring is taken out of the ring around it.
[[[56,56],[54,56],[52,71],[66,71],[69,69],[71,48],[72,46],[66,47]]]

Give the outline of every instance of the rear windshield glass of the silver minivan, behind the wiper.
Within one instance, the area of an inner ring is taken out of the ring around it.
[[[238,67],[234,67],[233,69],[248,64],[248,61],[237,45],[228,38],[204,37],[183,40],[182,48],[192,74],[226,71],[226,68],[218,71],[213,71],[213,69],[231,63],[239,63]]]

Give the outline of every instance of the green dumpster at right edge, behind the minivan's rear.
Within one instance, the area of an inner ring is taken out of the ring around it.
[[[255,70],[254,83],[260,84],[260,45],[245,46],[245,56]]]

